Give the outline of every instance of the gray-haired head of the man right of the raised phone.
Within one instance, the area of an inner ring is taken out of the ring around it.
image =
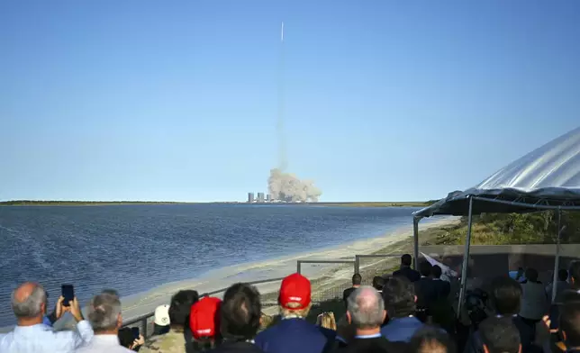
[[[114,294],[95,295],[88,306],[88,321],[95,331],[117,329],[120,314],[121,302]]]

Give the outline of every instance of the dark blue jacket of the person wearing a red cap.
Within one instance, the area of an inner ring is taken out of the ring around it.
[[[303,319],[285,319],[258,333],[256,346],[266,353],[322,353],[334,344],[336,332]]]

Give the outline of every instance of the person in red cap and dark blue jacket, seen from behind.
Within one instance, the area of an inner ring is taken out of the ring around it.
[[[322,353],[333,346],[335,331],[304,320],[312,306],[308,278],[300,274],[285,277],[278,304],[282,321],[258,333],[258,348],[266,353]]]

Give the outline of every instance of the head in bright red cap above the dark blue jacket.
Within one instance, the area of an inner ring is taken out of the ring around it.
[[[297,273],[286,276],[280,285],[278,303],[282,317],[295,315],[305,318],[308,316],[312,306],[311,285],[308,278]]]

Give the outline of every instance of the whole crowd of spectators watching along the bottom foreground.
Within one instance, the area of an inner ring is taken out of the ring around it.
[[[48,313],[48,296],[36,283],[24,283],[12,294],[14,330],[0,335],[0,353],[528,353],[580,351],[580,262],[560,271],[557,303],[549,305],[549,288],[529,268],[525,280],[509,276],[489,285],[485,314],[456,320],[453,308],[458,278],[443,277],[441,267],[421,262],[419,271],[404,255],[401,268],[362,285],[359,274],[345,290],[346,314],[322,312],[316,323],[306,320],[313,307],[308,278],[293,274],[282,281],[279,319],[264,315],[253,285],[231,285],[222,299],[195,290],[174,294],[155,311],[154,335],[137,336],[122,327],[119,294],[104,290],[88,303],[86,318],[74,298],[59,297]],[[561,290],[560,290],[561,288]],[[541,290],[540,290],[541,289]],[[541,294],[541,295],[539,295]],[[69,312],[73,330],[53,325]],[[269,318],[269,319],[268,319]]]

